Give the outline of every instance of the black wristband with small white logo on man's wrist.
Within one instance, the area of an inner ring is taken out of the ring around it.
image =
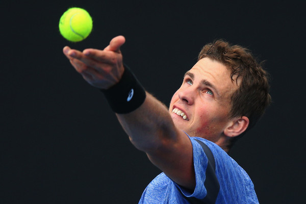
[[[140,107],[146,97],[145,90],[132,71],[124,65],[121,80],[109,89],[101,89],[115,113],[130,113]]]

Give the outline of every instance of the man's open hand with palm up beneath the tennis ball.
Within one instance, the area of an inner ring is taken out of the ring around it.
[[[85,49],[80,52],[65,46],[63,53],[90,85],[109,89],[120,81],[124,71],[120,52],[124,42],[123,36],[117,36],[104,50]]]

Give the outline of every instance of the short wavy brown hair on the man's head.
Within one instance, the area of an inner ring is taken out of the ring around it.
[[[230,69],[231,79],[236,83],[241,77],[241,84],[231,97],[232,109],[229,117],[248,117],[249,130],[271,103],[268,73],[247,48],[231,45],[224,40],[216,40],[203,46],[198,60],[206,57]]]

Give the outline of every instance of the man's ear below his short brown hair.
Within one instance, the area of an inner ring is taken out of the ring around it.
[[[249,125],[249,119],[245,116],[233,118],[231,123],[225,128],[224,135],[227,137],[236,137],[242,134]]]

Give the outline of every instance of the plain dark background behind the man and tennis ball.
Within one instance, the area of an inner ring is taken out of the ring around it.
[[[124,62],[166,105],[217,38],[252,50],[271,74],[273,104],[231,156],[260,203],[305,195],[305,11],[258,1],[2,2],[0,203],[138,203],[160,170],[132,146],[104,96],[62,54],[124,35]],[[65,40],[58,22],[86,9],[93,31]]]

